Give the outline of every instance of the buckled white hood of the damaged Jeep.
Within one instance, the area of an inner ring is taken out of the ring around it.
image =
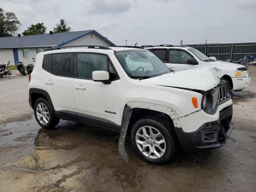
[[[144,84],[187,88],[207,91],[214,88],[225,70],[210,67],[198,67],[188,70],[171,72],[160,76],[141,80]]]

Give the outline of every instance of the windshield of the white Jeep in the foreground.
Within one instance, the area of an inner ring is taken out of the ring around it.
[[[131,78],[150,78],[169,73],[170,69],[148,50],[126,50],[115,53]]]

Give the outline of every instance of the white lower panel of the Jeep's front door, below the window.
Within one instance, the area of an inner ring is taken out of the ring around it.
[[[103,118],[120,125],[120,80],[103,84],[93,80],[74,79],[73,87],[78,113]]]

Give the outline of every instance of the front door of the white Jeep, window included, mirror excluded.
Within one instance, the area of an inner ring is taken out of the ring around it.
[[[121,83],[110,59],[104,54],[77,53],[73,81],[78,120],[119,131]],[[94,82],[92,72],[110,73],[110,84]]]

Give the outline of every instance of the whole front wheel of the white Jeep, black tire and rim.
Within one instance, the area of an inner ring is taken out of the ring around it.
[[[132,127],[131,141],[140,158],[152,164],[165,164],[178,149],[173,126],[158,116],[138,120]]]

